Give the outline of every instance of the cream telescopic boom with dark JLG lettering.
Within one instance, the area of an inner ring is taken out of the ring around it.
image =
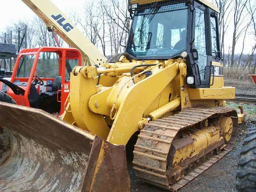
[[[69,46],[80,50],[85,65],[101,65],[106,62],[106,57],[51,0],[22,1],[44,21],[49,31],[55,31]]]

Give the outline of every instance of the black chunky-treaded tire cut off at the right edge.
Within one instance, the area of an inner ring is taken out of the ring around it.
[[[244,139],[236,176],[237,192],[256,191],[256,128],[252,128]]]

